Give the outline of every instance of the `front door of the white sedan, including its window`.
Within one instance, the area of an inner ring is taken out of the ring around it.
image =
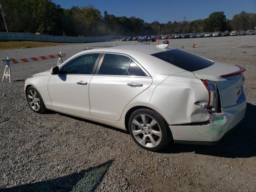
[[[89,84],[101,53],[77,56],[61,66],[58,75],[52,75],[48,91],[52,108],[90,116]]]

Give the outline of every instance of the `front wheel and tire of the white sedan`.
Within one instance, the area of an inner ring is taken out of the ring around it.
[[[30,86],[26,92],[26,99],[30,108],[36,113],[43,113],[46,111],[44,101],[38,90],[34,86]]]

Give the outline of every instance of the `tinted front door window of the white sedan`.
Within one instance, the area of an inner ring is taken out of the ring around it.
[[[60,70],[61,74],[91,74],[99,57],[99,53],[85,54],[76,57],[65,64]]]

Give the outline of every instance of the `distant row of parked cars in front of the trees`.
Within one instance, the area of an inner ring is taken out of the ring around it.
[[[186,34],[165,34],[165,35],[150,35],[137,37],[124,37],[122,39],[112,39],[112,41],[138,41],[138,42],[153,42],[158,39],[179,39],[179,38],[202,38],[202,37],[220,37],[220,36],[236,36],[236,35],[255,35],[254,30],[247,31],[216,31],[213,33],[186,33]]]

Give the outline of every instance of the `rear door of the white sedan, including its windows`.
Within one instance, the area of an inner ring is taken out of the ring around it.
[[[90,82],[90,113],[118,121],[126,105],[151,84],[150,75],[129,56],[103,54]]]

